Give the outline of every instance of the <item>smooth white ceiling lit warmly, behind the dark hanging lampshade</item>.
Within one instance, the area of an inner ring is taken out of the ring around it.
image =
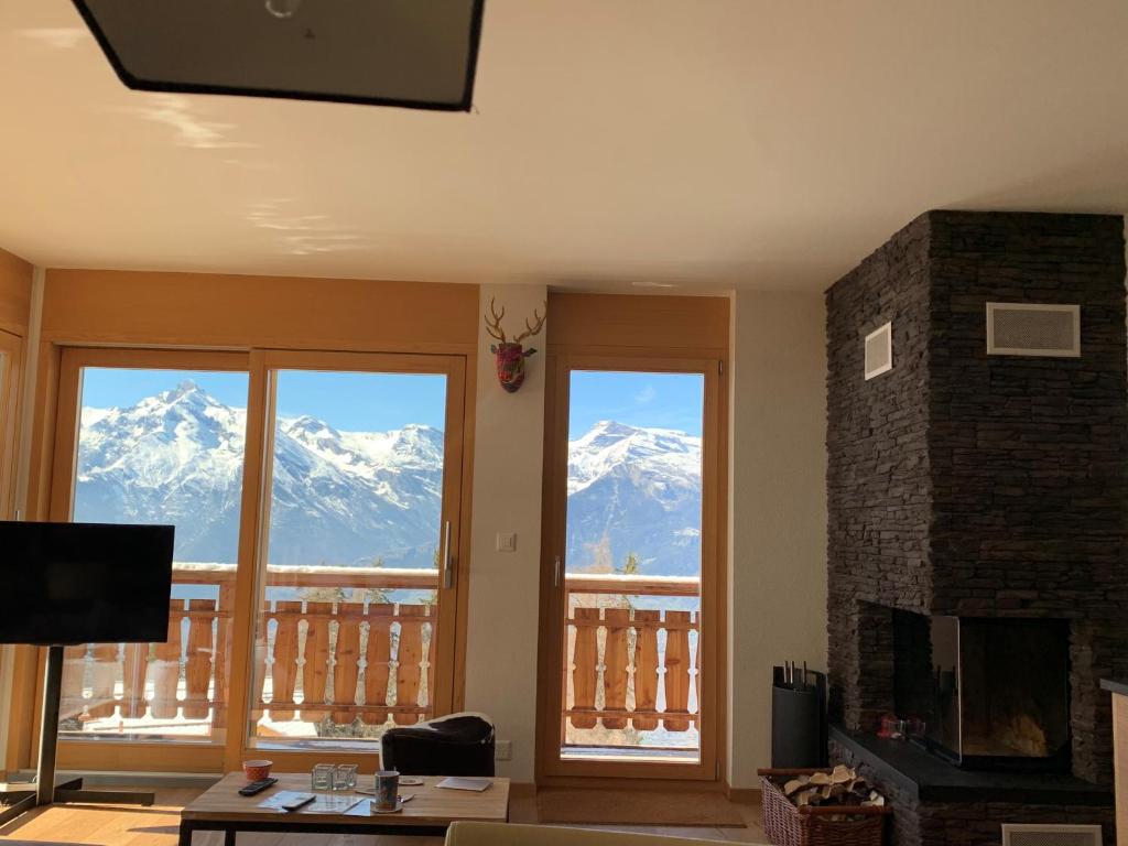
[[[814,290],[927,209],[1128,211],[1125,0],[487,0],[475,100],[133,92],[68,0],[0,0],[0,247]]]

